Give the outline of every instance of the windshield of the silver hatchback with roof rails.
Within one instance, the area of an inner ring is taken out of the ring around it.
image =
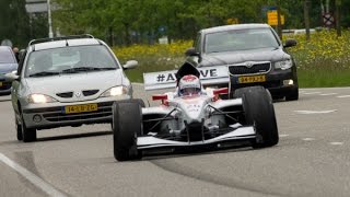
[[[72,46],[33,51],[26,77],[117,69],[117,62],[104,46]]]

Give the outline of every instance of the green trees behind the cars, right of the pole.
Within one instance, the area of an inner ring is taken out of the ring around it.
[[[91,33],[109,44],[152,44],[167,35],[171,39],[192,38],[205,27],[224,25],[228,19],[240,23],[267,23],[266,8],[277,0],[55,0],[54,27],[63,34]],[[310,26],[322,26],[320,1],[310,1]],[[336,0],[331,0],[335,2]],[[304,28],[304,0],[279,0],[285,18],[283,28]],[[334,3],[330,10],[335,11]],[[342,7],[350,0],[342,0]],[[341,14],[347,13],[345,11]],[[349,14],[339,16],[350,25]]]

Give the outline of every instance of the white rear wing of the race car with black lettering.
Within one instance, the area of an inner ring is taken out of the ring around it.
[[[200,81],[202,85],[223,84],[230,82],[229,68],[226,66],[201,67]],[[160,90],[176,86],[177,70],[143,73],[144,90]]]

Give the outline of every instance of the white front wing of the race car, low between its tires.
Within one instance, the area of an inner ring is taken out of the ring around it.
[[[148,150],[156,148],[176,148],[176,147],[198,147],[198,146],[210,146],[224,142],[232,142],[238,140],[249,140],[255,139],[256,132],[253,126],[240,127],[228,134],[218,136],[215,138],[201,140],[201,141],[175,141],[160,139],[153,136],[138,137],[137,148],[138,150]]]

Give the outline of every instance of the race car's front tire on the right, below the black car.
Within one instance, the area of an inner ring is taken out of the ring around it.
[[[265,148],[277,144],[279,136],[269,91],[262,86],[244,88],[241,91],[246,123],[255,127],[257,135],[252,147]]]

